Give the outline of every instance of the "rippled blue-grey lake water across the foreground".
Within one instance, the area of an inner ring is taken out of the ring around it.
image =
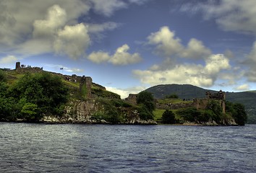
[[[0,172],[256,172],[256,125],[0,123]]]

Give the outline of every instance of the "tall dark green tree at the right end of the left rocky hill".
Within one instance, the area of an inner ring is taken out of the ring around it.
[[[137,94],[137,104],[140,105],[140,118],[143,120],[153,119],[155,103],[152,93],[144,91]]]

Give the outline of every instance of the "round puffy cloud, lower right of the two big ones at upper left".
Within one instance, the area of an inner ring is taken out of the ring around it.
[[[77,59],[85,54],[89,45],[88,28],[83,24],[77,24],[65,26],[64,30],[58,32],[58,37],[54,42],[54,50],[56,50],[56,53],[64,53]]]

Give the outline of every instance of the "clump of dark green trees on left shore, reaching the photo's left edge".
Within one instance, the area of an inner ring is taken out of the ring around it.
[[[14,84],[0,71],[0,120],[37,122],[43,115],[61,115],[68,89],[58,76],[46,72],[25,74]]]

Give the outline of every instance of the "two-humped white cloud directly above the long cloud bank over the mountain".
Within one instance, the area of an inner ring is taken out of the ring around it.
[[[205,48],[200,40],[192,38],[187,44],[187,48],[182,45],[182,40],[175,37],[175,32],[168,27],[161,27],[158,32],[153,32],[148,36],[148,44],[156,45],[155,53],[161,56],[176,56],[179,58],[206,58],[211,51]]]

